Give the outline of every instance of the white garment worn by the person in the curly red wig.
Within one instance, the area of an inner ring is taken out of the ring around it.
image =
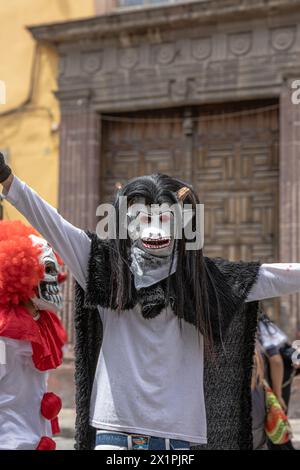
[[[48,374],[35,368],[29,341],[0,336],[0,344],[0,450],[34,450],[52,437],[40,412]]]

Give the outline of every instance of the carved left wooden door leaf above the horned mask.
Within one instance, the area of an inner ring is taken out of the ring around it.
[[[151,173],[180,176],[185,147],[180,117],[179,112],[163,111],[122,116],[120,122],[104,118],[102,202],[111,201],[119,181],[124,183],[134,176]]]

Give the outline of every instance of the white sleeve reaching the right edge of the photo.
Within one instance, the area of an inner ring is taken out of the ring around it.
[[[262,264],[246,302],[300,292],[300,263]]]

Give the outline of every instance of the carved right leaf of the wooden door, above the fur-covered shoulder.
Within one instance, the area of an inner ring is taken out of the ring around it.
[[[240,111],[229,117],[202,115],[195,129],[193,183],[205,204],[205,252],[232,260],[275,261],[277,110]]]

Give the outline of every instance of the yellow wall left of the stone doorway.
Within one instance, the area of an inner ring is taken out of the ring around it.
[[[59,105],[55,50],[38,46],[26,25],[92,16],[94,0],[9,0],[0,2],[0,80],[6,104],[0,104],[0,149],[9,152],[14,172],[47,201],[57,205]],[[32,66],[36,74],[32,77]],[[31,100],[29,96],[34,83]],[[9,112],[8,114],[5,114]],[[4,218],[20,218],[4,203]]]

